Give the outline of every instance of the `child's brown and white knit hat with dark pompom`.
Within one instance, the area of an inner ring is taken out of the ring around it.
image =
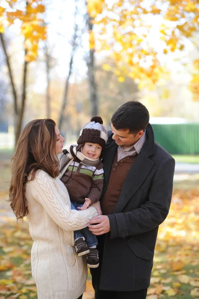
[[[94,116],[90,123],[86,124],[80,132],[77,144],[81,145],[85,142],[99,144],[102,149],[105,148],[108,139],[108,133],[103,126],[103,120],[100,116]]]

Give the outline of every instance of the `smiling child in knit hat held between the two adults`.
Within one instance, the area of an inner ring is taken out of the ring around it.
[[[71,200],[71,209],[85,210],[99,201],[103,189],[102,154],[107,141],[107,131],[101,117],[94,116],[80,132],[77,147],[64,149],[59,156],[59,178],[65,184]],[[87,255],[89,268],[99,266],[97,238],[88,227],[74,232],[78,256]]]

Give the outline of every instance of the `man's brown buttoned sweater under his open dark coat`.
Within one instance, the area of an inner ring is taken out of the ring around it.
[[[108,187],[102,200],[103,215],[112,214],[117,204],[126,175],[135,161],[136,156],[137,155],[127,156],[117,162],[116,153],[111,169]]]

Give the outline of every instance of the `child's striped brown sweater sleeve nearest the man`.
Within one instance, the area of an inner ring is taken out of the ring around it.
[[[103,191],[103,183],[104,183],[104,169],[103,168],[96,169],[94,172],[90,193],[87,196],[91,200],[91,204],[99,201]]]

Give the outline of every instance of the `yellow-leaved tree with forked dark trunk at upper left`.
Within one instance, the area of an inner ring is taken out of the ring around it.
[[[0,6],[0,41],[5,56],[5,62],[10,79],[10,86],[13,96],[15,143],[17,142],[25,111],[26,87],[27,87],[27,66],[38,57],[38,44],[46,38],[46,26],[42,13],[45,6],[41,0],[5,0]],[[21,35],[24,36],[24,61],[21,84],[21,97],[17,93],[15,80],[10,61],[10,51],[6,45],[4,32],[11,25],[19,25]]]

